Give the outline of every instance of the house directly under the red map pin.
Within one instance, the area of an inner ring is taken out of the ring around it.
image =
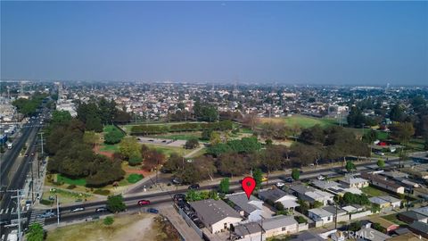
[[[232,203],[235,204],[235,210],[239,212],[247,220],[260,220],[262,219],[263,201],[259,198],[250,195],[250,199],[245,193],[236,193],[226,195]]]

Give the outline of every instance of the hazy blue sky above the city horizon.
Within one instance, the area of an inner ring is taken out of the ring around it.
[[[427,85],[427,2],[1,2],[1,79]]]

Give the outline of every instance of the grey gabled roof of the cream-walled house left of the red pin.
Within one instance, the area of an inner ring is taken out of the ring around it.
[[[204,223],[211,225],[227,217],[241,218],[238,212],[221,200],[206,199],[190,205]]]

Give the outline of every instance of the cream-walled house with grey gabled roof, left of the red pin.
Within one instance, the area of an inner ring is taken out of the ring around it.
[[[211,233],[218,233],[229,229],[242,219],[238,212],[221,200],[206,199],[191,202],[190,206],[202,223],[210,229]]]

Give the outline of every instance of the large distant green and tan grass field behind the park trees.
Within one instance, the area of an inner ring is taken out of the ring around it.
[[[334,125],[336,120],[327,119],[327,118],[315,118],[304,115],[293,115],[291,117],[279,117],[279,118],[260,118],[261,123],[266,122],[284,122],[288,127],[298,126],[300,129],[306,129],[313,127],[315,125],[320,125],[321,127],[327,127]]]

